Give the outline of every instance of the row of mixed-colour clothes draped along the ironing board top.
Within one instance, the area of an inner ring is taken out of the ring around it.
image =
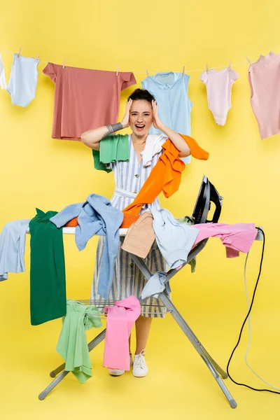
[[[71,204],[62,211],[36,209],[34,218],[7,223],[0,235],[0,280],[8,272],[25,271],[25,237],[31,239],[30,308],[31,325],[38,325],[66,314],[66,276],[62,227],[78,218],[75,241],[82,251],[94,235],[106,237],[102,253],[98,293],[109,298],[113,269],[120,246],[119,228],[124,214],[101,195],[92,194],[83,203]],[[219,237],[226,246],[227,257],[248,253],[257,230],[253,223],[205,223],[191,225],[189,217],[176,219],[167,209],[153,211],[153,205],[141,214],[127,231],[122,247],[145,258],[156,240],[170,269],[179,269],[188,260],[188,253],[198,242]],[[194,270],[194,262],[193,262]],[[42,300],[41,297],[44,296]]]

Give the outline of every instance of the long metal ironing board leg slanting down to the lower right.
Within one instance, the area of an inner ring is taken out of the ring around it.
[[[176,323],[179,324],[179,326],[181,327],[181,330],[183,330],[183,332],[186,334],[186,336],[188,337],[190,342],[193,344],[197,352],[202,357],[202,360],[204,360],[204,362],[206,363],[211,374],[213,374],[214,378],[218,382],[218,385],[220,386],[221,390],[225,394],[225,397],[228,399],[228,402],[230,402],[230,407],[232,408],[237,407],[237,403],[232,398],[230,391],[228,391],[228,388],[225,386],[225,384],[223,383],[221,379],[221,377],[223,377],[223,379],[226,379],[228,377],[228,374],[215,362],[213,358],[211,358],[207,350],[204,349],[204,346],[202,346],[199,339],[197,339],[194,332],[190,329],[190,327],[184,320],[183,316],[181,316],[178,309],[176,309],[176,307],[174,306],[172,301],[169,299],[169,297],[165,293],[160,293],[159,297],[162,300],[163,304],[165,304],[167,309],[171,311],[171,314],[173,318],[175,319]],[[219,375],[221,375],[221,377]]]

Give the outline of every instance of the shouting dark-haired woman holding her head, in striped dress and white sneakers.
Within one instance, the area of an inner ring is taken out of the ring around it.
[[[148,131],[152,124],[164,134],[149,135]],[[99,141],[101,139],[106,139],[109,134],[127,127],[130,127],[132,130],[132,134],[130,134],[130,161],[110,164],[115,176],[116,188],[118,188],[111,199],[111,203],[120,210],[125,209],[134,200],[137,193],[139,193],[141,186],[143,186],[151,170],[158,162],[160,155],[163,153],[162,144],[165,143],[167,138],[178,149],[181,158],[190,155],[190,148],[180,134],[171,130],[160,120],[158,116],[158,105],[153,95],[147,90],[141,89],[135,90],[128,98],[125,116],[121,123],[89,130],[82,134],[81,139],[86,146],[99,151]],[[146,147],[147,145],[148,147]],[[146,164],[144,165],[141,154],[144,154],[145,149],[151,151],[151,156],[146,159]],[[155,205],[158,208],[160,207],[158,198],[155,199]],[[141,213],[146,211],[147,208],[148,206],[142,208]],[[103,244],[104,237],[100,237],[97,246],[97,260],[94,269],[91,296],[93,300],[100,301],[102,301],[102,297],[97,294],[97,285],[99,280],[99,260],[102,254]],[[148,253],[146,264],[151,272],[165,271],[165,261],[156,242]],[[130,255],[119,248],[110,299],[122,300],[130,295],[140,297],[145,283],[146,279],[141,274],[137,265],[134,264]],[[165,316],[165,310],[162,302],[151,297],[147,300],[145,309],[142,310],[141,316],[136,321],[137,349],[135,351],[134,362],[132,360],[132,353],[130,353],[130,363],[133,365],[132,372],[136,377],[144,377],[148,373],[144,353],[151,328],[151,321],[153,317],[163,316]],[[117,369],[109,370],[109,373],[113,376],[119,376],[124,372],[124,370]]]

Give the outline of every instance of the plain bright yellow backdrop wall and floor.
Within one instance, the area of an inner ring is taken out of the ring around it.
[[[252,311],[249,362],[280,387],[279,332],[279,177],[280,138],[260,140],[250,104],[248,64],[270,50],[280,52],[279,2],[268,1],[15,1],[1,3],[0,48],[66,65],[134,71],[137,86],[145,67],[181,71],[209,66],[234,67],[232,109],[225,127],[214,123],[207,106],[201,71],[189,72],[193,101],[192,135],[210,153],[207,162],[186,168],[179,193],[162,200],[176,216],[193,211],[202,175],[224,197],[221,221],[248,222],[265,229],[263,272]],[[6,77],[12,56],[2,52]],[[35,207],[59,211],[88,194],[111,197],[113,176],[94,172],[83,144],[50,138],[54,84],[41,73],[36,98],[27,109],[13,106],[0,92],[1,220],[32,218]],[[187,71],[188,72],[188,71]],[[125,99],[135,87],[122,93]],[[92,282],[94,238],[79,253],[73,237],[64,240],[67,295],[88,298]],[[261,243],[253,245],[248,284],[253,290]],[[131,373],[112,378],[102,367],[103,344],[91,353],[93,377],[80,386],[69,374],[44,401],[38,393],[50,382],[48,372],[61,363],[55,351],[61,321],[38,327],[29,322],[29,239],[23,274],[0,284],[0,417],[6,419],[279,419],[280,395],[257,393],[226,384],[238,407],[230,409],[207,367],[171,316],[154,321],[148,343],[148,377]],[[226,366],[246,314],[245,255],[229,260],[218,239],[197,258],[197,272],[186,267],[172,281],[173,299],[209,353]],[[43,298],[43,297],[42,297]],[[89,339],[97,332],[91,330]],[[264,388],[244,363],[247,330],[232,363],[237,381]]]

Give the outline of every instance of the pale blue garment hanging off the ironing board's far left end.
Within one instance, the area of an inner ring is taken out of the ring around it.
[[[0,235],[0,281],[25,272],[25,240],[30,219],[6,223]]]

